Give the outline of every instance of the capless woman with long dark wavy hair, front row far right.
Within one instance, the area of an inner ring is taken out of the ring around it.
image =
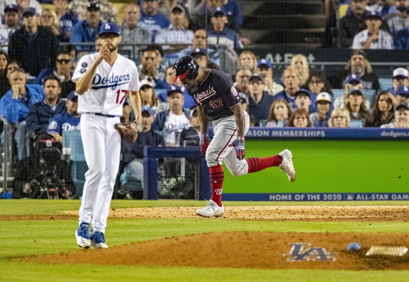
[[[382,91],[376,99],[372,113],[366,120],[366,127],[379,127],[393,121],[393,105],[396,98],[387,90]]]

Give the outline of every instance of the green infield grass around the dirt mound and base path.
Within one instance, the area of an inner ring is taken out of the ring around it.
[[[225,205],[408,205],[402,202],[225,202]],[[58,214],[79,208],[80,202],[1,200],[0,215]],[[201,206],[201,201],[112,201],[112,208],[156,206]],[[0,221],[1,282],[88,282],[88,281],[409,281],[409,271],[311,271],[257,270],[236,268],[195,268],[164,266],[45,265],[11,261],[13,257],[59,253],[79,249],[75,220]],[[409,223],[373,222],[296,222],[239,221],[220,219],[122,219],[108,220],[109,246],[214,231],[275,232],[409,232]],[[203,255],[209,250],[203,250]],[[215,264],[217,266],[217,264]]]

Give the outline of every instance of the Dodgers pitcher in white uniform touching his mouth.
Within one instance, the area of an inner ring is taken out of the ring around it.
[[[84,248],[91,244],[108,248],[104,232],[121,151],[121,137],[114,126],[120,122],[127,93],[136,120],[142,119],[138,70],[133,61],[117,53],[121,42],[118,26],[106,23],[99,32],[103,47],[98,53],[83,56],[72,77],[79,94],[81,139],[88,165],[75,231],[78,245]]]

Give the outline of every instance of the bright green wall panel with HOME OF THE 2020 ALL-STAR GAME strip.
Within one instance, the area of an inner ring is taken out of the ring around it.
[[[409,200],[407,140],[246,140],[246,158],[290,149],[297,171],[290,183],[268,168],[232,176],[225,168],[225,201]]]

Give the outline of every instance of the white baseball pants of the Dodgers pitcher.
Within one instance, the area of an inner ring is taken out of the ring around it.
[[[81,115],[81,138],[88,171],[79,209],[79,223],[91,222],[105,232],[112,193],[119,169],[121,135],[114,128],[119,117]]]

